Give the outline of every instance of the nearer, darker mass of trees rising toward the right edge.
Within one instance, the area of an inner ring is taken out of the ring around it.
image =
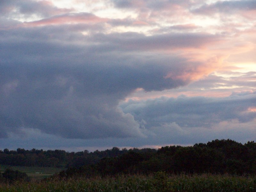
[[[116,157],[104,157],[96,164],[68,168],[59,177],[76,175],[150,174],[154,172],[255,174],[256,143],[212,140],[191,147],[166,146],[158,150],[128,150]]]

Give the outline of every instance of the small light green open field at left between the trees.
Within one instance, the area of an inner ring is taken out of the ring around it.
[[[44,179],[55,173],[58,173],[64,170],[64,168],[56,168],[56,167],[26,167],[26,166],[0,165],[0,172],[4,172],[7,168],[25,172],[31,179]]]

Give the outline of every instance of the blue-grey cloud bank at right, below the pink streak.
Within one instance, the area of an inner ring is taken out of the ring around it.
[[[156,98],[146,101],[130,100],[120,107],[138,121],[147,122],[146,128],[175,122],[182,127],[212,127],[222,121],[238,120],[249,122],[255,112],[248,108],[255,106],[256,95],[231,95],[225,98],[185,97]]]

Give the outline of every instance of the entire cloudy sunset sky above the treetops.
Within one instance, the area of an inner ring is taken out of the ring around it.
[[[0,0],[0,149],[256,140],[255,0]]]

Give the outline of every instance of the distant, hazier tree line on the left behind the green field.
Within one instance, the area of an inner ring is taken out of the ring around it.
[[[138,151],[139,149],[129,149],[129,151],[131,150]],[[0,164],[38,167],[81,167],[86,164],[98,163],[103,157],[115,157],[127,151],[126,148],[120,150],[117,147],[104,151],[96,150],[89,152],[84,150],[76,153],[58,149],[44,151],[43,149],[38,150],[34,148],[31,150],[23,148],[9,150],[5,148],[0,150]]]

